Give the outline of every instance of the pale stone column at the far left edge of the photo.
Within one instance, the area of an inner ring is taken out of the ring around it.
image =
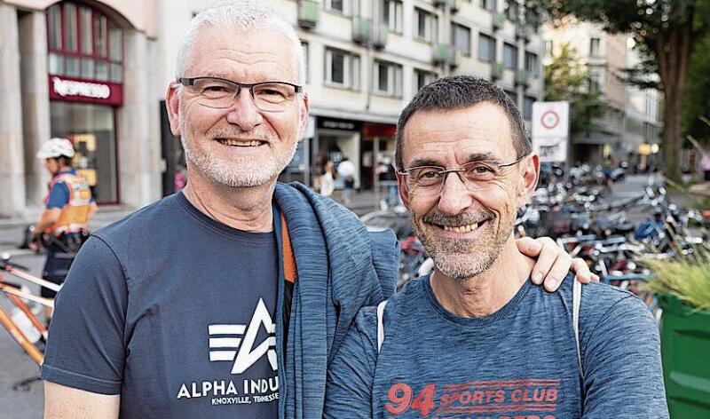
[[[17,10],[0,3],[0,217],[17,217],[25,209],[18,37]]]

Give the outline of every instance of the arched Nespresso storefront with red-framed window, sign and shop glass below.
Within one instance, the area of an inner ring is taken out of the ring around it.
[[[97,202],[118,203],[122,28],[83,4],[53,4],[46,16],[51,137],[74,143],[75,169],[87,179]]]

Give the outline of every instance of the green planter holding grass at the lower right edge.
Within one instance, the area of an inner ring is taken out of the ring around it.
[[[710,417],[710,312],[659,295],[661,357],[673,419]]]

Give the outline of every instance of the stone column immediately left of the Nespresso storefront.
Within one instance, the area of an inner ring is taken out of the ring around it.
[[[50,176],[36,158],[50,138],[50,94],[47,82],[47,25],[44,12],[20,17],[20,71],[22,75],[22,132],[25,148],[25,187],[30,206],[40,205]]]

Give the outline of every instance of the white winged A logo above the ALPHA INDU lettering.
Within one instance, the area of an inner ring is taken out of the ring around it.
[[[256,344],[261,328],[268,336]],[[211,324],[209,331],[209,361],[233,362],[232,374],[241,374],[266,355],[274,371],[276,362],[276,325],[259,298],[248,326],[244,324]],[[256,347],[255,347],[256,344]]]

